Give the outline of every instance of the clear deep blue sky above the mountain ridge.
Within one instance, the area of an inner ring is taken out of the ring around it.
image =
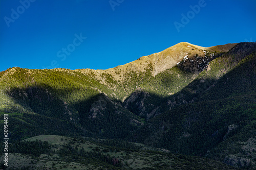
[[[107,69],[183,41],[256,41],[255,9],[255,0],[0,0],[0,71]]]

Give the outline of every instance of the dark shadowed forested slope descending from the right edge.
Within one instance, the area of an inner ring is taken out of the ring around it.
[[[212,61],[162,105],[161,109],[170,110],[148,121],[134,140],[175,153],[255,167],[255,54],[255,43],[240,43]]]

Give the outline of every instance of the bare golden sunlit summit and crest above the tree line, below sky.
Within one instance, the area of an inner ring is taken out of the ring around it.
[[[177,65],[180,61],[184,59],[184,57],[191,55],[198,54],[199,57],[203,57],[204,51],[211,51],[211,52],[227,52],[232,48],[234,45],[238,43],[232,44],[225,44],[225,45],[217,45],[211,47],[202,47],[198,45],[194,45],[188,42],[180,42],[169,48],[154,53],[148,56],[140,57],[139,59],[132,61],[130,63],[124,65],[118,65],[114,68],[109,68],[106,70],[93,70],[93,69],[79,69],[78,71],[83,72],[84,74],[96,74],[97,77],[100,79],[100,74],[103,72],[112,75],[116,80],[124,81],[122,75],[126,72],[140,72],[146,71],[147,69],[151,69],[151,73],[153,76],[156,76],[160,72],[172,68],[173,66]],[[117,74],[118,73],[118,74]]]

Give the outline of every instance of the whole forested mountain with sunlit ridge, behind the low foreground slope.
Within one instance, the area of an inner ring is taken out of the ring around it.
[[[9,142],[16,148],[38,144],[21,142],[27,138],[60,135],[97,144],[105,141],[108,147],[119,143],[120,151],[127,143],[143,143],[164,155],[162,161],[151,160],[155,165],[144,168],[175,169],[172,162],[166,164],[173,153],[180,155],[172,158],[178,161],[177,168],[204,169],[215,160],[212,168],[255,169],[255,52],[254,42],[212,47],[181,42],[106,70],[13,67],[0,72],[0,113],[2,117],[8,113]],[[51,157],[56,151],[49,143],[41,154]],[[57,148],[61,150],[61,145]],[[74,155],[80,149],[69,148]],[[102,152],[99,157],[104,157]],[[88,159],[84,154],[81,160]],[[143,169],[134,162],[126,165],[129,156],[120,154],[114,154],[115,161],[122,160],[117,168]],[[70,155],[66,153],[66,162],[74,159]],[[183,158],[201,165],[187,164]],[[98,157],[97,162],[114,168]],[[187,166],[180,166],[182,162]]]

